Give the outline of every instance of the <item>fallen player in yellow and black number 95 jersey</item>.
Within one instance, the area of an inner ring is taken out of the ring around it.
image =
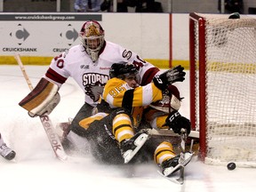
[[[130,161],[138,162],[147,158],[146,156],[151,156],[151,158],[154,156],[156,164],[162,166],[163,170],[179,164],[179,156],[175,156],[170,142],[162,139],[148,139],[147,132],[139,132],[139,125],[144,109],[150,103],[163,100],[165,90],[170,86],[174,87],[170,84],[184,80],[183,69],[180,66],[172,68],[163,75],[156,76],[152,83],[138,86],[138,71],[133,65],[129,63],[112,65],[109,71],[111,79],[105,85],[102,100],[103,103],[108,102],[109,110],[106,111],[107,113],[98,113],[85,118],[79,123],[92,133],[89,140],[92,145],[92,154],[96,159],[109,164],[127,164]],[[179,92],[174,88],[169,89],[169,91],[172,90]],[[178,112],[180,93],[178,98],[173,94],[168,104],[169,108],[173,108],[174,113],[170,111],[171,114],[165,113],[164,117],[160,113],[160,122],[164,119],[164,124],[160,123],[161,128],[172,127],[174,132],[180,132],[183,127],[189,133],[189,120],[180,116]],[[153,110],[156,109],[153,108]],[[157,117],[156,113],[155,117]],[[158,125],[159,119],[156,120]],[[138,154],[140,157],[132,159],[140,148],[144,148]],[[191,156],[188,154],[187,161],[189,162],[190,159]]]

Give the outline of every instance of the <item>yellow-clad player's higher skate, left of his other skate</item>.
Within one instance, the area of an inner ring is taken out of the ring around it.
[[[124,157],[124,164],[128,164],[132,157],[137,154],[140,148],[144,145],[148,139],[148,134],[145,132],[139,132],[135,134],[130,140],[124,140],[121,143],[121,153]]]

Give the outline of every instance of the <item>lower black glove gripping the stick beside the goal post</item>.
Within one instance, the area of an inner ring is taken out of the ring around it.
[[[170,113],[170,115],[166,118],[164,125],[169,126],[169,128],[172,129],[173,132],[178,134],[181,133],[181,128],[186,129],[187,134],[189,134],[191,130],[190,121],[186,117],[180,116],[180,113],[176,110]]]

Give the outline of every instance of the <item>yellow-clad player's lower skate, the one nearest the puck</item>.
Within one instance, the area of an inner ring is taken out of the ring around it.
[[[184,154],[184,161],[180,162],[180,155],[171,159],[165,160],[161,167],[163,169],[163,175],[165,177],[171,176],[172,173],[180,170],[181,167],[185,167],[192,159],[193,153],[186,152]]]

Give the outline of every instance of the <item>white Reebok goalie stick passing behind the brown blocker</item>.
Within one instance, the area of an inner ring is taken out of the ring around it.
[[[28,87],[31,90],[33,90],[33,86],[28,78],[28,75],[26,73],[26,70],[23,66],[23,63],[21,62],[20,60],[20,55],[19,54],[15,54],[14,56],[15,60],[17,60],[19,66],[20,66],[20,69],[22,71],[22,74],[23,76],[25,77],[26,79],[26,82],[28,84]],[[43,127],[44,127],[44,131],[46,132],[47,134],[47,137],[52,145],[52,149],[53,149],[53,152],[55,153],[55,156],[60,159],[61,161],[64,161],[64,160],[67,160],[68,159],[68,156],[60,142],[60,138],[58,137],[58,135],[54,132],[54,128],[53,128],[53,125],[52,125],[52,121],[50,119],[49,116],[47,115],[43,115],[43,116],[39,116],[40,117],[40,120],[41,120],[41,123],[43,124]]]

